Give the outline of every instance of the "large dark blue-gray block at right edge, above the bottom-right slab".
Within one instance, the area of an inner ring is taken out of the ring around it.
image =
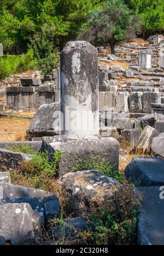
[[[164,159],[134,157],[125,168],[125,176],[138,186],[162,186],[164,185]]]

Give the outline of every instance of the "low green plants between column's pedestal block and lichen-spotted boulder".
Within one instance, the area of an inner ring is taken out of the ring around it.
[[[122,183],[123,176],[119,171],[114,170],[114,165],[111,165],[109,160],[101,157],[91,157],[89,159],[80,159],[77,164],[71,169],[71,172],[81,171],[81,170],[91,170],[95,169],[102,174],[113,177]]]

